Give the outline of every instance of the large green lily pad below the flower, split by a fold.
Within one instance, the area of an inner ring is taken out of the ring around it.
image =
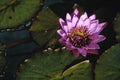
[[[66,50],[48,51],[29,59],[17,80],[92,80],[91,64]]]

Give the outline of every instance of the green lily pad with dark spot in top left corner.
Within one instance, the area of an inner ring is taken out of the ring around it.
[[[41,7],[42,0],[0,0],[0,29],[23,24]]]

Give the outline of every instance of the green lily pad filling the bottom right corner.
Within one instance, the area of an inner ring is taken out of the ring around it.
[[[120,80],[120,44],[112,46],[100,56],[95,69],[95,80]]]

